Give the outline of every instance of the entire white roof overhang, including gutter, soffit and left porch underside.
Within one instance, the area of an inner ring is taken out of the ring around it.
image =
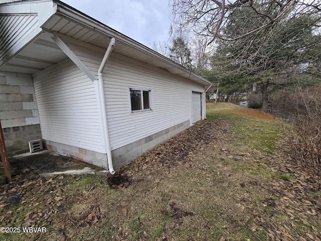
[[[7,5],[19,5],[26,2],[39,3],[51,1],[29,0],[9,3]],[[165,69],[171,74],[184,77],[204,86],[211,85],[211,82],[194,72],[71,6],[57,0],[53,0],[52,3],[53,9],[49,10],[49,12],[53,14],[47,20],[41,21],[40,28],[42,33],[35,36],[19,53],[13,56],[4,66],[1,66],[0,71],[32,74],[66,59],[65,53],[51,39],[55,33],[59,33],[103,49],[107,48],[109,39],[113,37],[116,39],[113,52]],[[41,53],[39,53],[39,50],[41,50]]]

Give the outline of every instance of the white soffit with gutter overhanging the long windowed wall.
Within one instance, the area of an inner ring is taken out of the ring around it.
[[[203,85],[211,84],[211,82],[165,56],[156,53],[93,18],[59,3],[57,13],[43,25],[44,29],[64,34],[103,49],[107,48],[109,38],[113,37],[116,39],[113,52],[165,69],[172,74],[188,78]]]

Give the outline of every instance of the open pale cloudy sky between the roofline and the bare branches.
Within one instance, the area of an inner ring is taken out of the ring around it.
[[[168,0],[62,0],[114,30],[151,47],[169,39]]]

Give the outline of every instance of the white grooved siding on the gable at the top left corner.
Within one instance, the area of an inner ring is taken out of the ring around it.
[[[0,65],[31,41],[27,37],[37,31],[37,15],[0,16]],[[41,29],[39,28],[39,32]],[[34,37],[34,36],[32,36]]]

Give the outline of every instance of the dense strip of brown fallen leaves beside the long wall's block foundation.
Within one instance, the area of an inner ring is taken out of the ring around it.
[[[137,158],[118,172],[131,178],[152,173],[164,173],[168,178],[174,178],[170,173],[176,168],[182,170],[194,168],[194,155],[200,150],[213,146],[218,142],[224,145],[229,138],[227,121],[198,122],[183,133],[159,145]]]

